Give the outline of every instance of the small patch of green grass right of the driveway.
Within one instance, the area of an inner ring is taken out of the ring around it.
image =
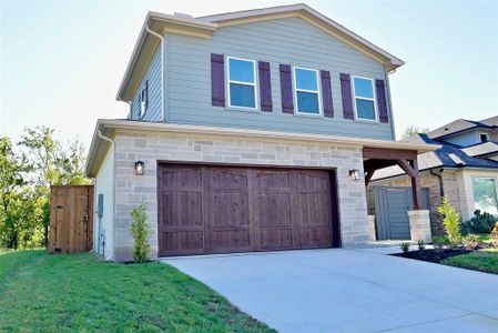
[[[444,264],[498,274],[498,249],[484,249],[443,261]]]

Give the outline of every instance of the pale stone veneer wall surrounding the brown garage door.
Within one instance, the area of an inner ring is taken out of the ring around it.
[[[282,140],[241,140],[226,137],[179,133],[115,134],[115,223],[114,260],[131,260],[133,240],[130,236],[130,211],[144,202],[149,223],[154,231],[151,239],[152,258],[157,256],[157,161],[210,162],[254,165],[319,167],[337,170],[338,211],[343,246],[368,242],[369,228],[366,191],[363,178],[353,181],[349,170],[363,174],[360,148],[331,147],[313,142]],[[134,174],[134,162],[145,163],[145,174]]]

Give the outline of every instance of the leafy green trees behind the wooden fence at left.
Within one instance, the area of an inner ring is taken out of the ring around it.
[[[24,129],[14,147],[0,138],[0,246],[47,246],[50,224],[50,186],[88,184],[84,145],[67,145],[45,127]]]

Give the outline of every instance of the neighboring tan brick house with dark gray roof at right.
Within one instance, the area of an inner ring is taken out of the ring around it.
[[[420,185],[428,188],[433,232],[443,233],[437,209],[446,195],[461,220],[475,210],[498,215],[498,117],[481,121],[459,119],[427,134],[404,142],[439,144],[418,157]],[[369,186],[407,186],[409,179],[398,167],[378,170]]]

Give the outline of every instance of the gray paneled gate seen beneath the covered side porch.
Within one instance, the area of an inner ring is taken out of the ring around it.
[[[421,206],[428,210],[429,189],[421,188]],[[375,215],[376,239],[409,240],[410,229],[408,211],[414,205],[411,188],[407,186],[375,186],[368,190],[368,214]]]

